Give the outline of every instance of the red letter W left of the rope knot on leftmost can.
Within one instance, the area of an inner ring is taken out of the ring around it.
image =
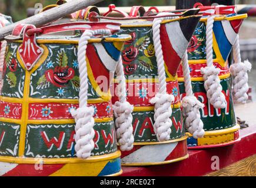
[[[55,145],[57,150],[61,150],[65,138],[65,133],[63,131],[59,132],[59,138],[52,137],[51,140],[48,139],[45,131],[41,132],[42,139],[45,142],[45,145],[48,147],[48,152],[52,150],[52,147]]]

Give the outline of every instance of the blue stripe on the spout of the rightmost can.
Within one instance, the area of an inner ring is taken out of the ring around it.
[[[225,35],[224,29],[222,27],[221,21],[214,22],[213,26],[214,35],[218,43],[222,58],[224,61],[227,61],[228,55],[230,55],[232,45],[228,41],[227,36]]]

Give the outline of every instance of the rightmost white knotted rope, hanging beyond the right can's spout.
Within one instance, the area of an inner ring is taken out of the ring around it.
[[[248,71],[251,70],[251,63],[248,59],[244,62],[241,61],[239,35],[235,39],[234,48],[234,64],[230,66],[231,75],[234,76],[233,80],[233,96],[235,103],[246,103],[248,99]]]

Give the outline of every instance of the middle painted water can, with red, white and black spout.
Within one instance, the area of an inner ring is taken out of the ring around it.
[[[113,5],[110,8],[114,11]],[[112,10],[104,16],[107,16]],[[128,14],[123,13],[123,15],[127,16]],[[161,21],[158,20],[158,30],[155,30],[159,32],[158,34],[154,34],[153,31],[154,17],[134,18],[134,20],[131,17],[135,16],[130,14],[127,19],[117,20],[122,24],[121,31],[118,33],[132,36],[131,40],[125,42],[122,63],[127,79],[127,100],[134,105],[132,112],[134,147],[132,150],[122,151],[121,163],[124,166],[146,166],[186,159],[188,157],[187,136],[182,122],[177,69],[201,16],[188,15],[171,18],[165,16],[163,18],[162,15]],[[101,20],[108,19],[115,18],[103,17]],[[155,41],[154,36],[158,37]],[[158,47],[158,51],[162,52],[165,62],[162,65],[164,71],[161,72],[164,79],[158,78],[159,69],[154,46],[156,41],[162,46]],[[162,79],[160,82],[164,82],[168,96],[173,97],[168,106],[168,108],[171,106],[169,109],[172,110],[172,113],[170,116],[167,115],[172,126],[164,140],[161,141],[159,141],[161,136],[157,136],[157,129],[154,127],[155,107],[152,103],[152,98],[159,92],[160,79]],[[116,85],[115,82],[114,88]],[[117,101],[117,97],[113,96],[112,102],[115,101]]]

